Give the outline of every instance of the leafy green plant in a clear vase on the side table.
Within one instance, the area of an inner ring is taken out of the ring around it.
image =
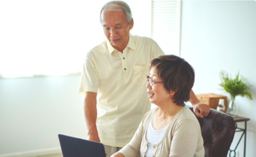
[[[228,93],[231,97],[227,112],[232,116],[237,116],[238,108],[234,103],[235,98],[236,96],[246,96],[252,100],[251,93],[249,92],[251,85],[247,85],[245,83],[246,78],[244,78],[242,75],[239,75],[239,72],[237,75],[235,75],[236,77],[234,79],[231,78],[231,76],[228,75],[228,73],[225,71],[221,71],[219,76],[221,80],[221,83],[219,84],[219,86],[222,87],[221,90]]]

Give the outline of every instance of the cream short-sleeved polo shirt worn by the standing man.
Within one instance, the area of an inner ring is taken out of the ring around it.
[[[124,147],[149,111],[146,75],[158,55],[164,53],[155,41],[131,34],[123,53],[108,40],[87,53],[79,93],[97,93],[96,125],[104,145]]]

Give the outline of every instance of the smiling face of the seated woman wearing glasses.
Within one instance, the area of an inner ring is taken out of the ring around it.
[[[151,78],[151,80],[154,82],[162,82],[161,78],[157,74],[156,68],[150,69],[149,78]],[[147,83],[146,86],[147,93],[149,94],[149,101],[151,103],[154,103],[157,106],[161,106],[161,104],[169,103],[171,100],[171,95],[164,87],[164,83],[157,83],[153,86],[150,86],[149,83]]]

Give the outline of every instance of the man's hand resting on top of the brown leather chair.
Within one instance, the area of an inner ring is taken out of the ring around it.
[[[204,116],[207,116],[210,113],[210,106],[205,103],[197,103],[193,104],[194,113],[196,116],[203,118]]]

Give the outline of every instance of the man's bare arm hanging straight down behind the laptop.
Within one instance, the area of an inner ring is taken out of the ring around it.
[[[84,99],[84,115],[87,126],[87,139],[100,142],[97,127],[97,93],[86,91]]]

